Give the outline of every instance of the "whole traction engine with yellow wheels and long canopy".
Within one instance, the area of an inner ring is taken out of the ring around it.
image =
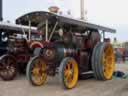
[[[98,80],[109,80],[114,71],[112,45],[102,42],[103,33],[115,30],[49,12],[32,12],[20,18],[29,18],[34,26],[42,24],[44,47],[27,65],[26,75],[31,84],[43,85],[47,76],[59,74],[64,88],[75,87],[78,76],[93,71]]]

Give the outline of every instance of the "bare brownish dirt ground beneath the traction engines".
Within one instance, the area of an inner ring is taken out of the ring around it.
[[[116,64],[115,70],[128,73],[128,64]],[[128,79],[79,80],[74,89],[65,90],[57,77],[48,78],[44,86],[34,87],[25,76],[17,76],[10,82],[0,80],[0,96],[128,96]]]

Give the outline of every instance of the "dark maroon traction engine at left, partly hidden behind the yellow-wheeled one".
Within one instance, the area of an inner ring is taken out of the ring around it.
[[[18,71],[25,72],[34,48],[42,48],[43,44],[34,27],[30,29],[24,25],[0,22],[0,30],[1,44],[6,44],[0,46],[0,77],[3,80],[12,80]]]

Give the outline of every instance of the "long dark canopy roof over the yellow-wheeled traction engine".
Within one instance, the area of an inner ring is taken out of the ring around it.
[[[16,19],[16,24],[22,24],[22,25],[29,25],[29,21],[31,21],[32,26],[36,26],[48,19],[50,22],[55,22],[56,20],[59,22],[59,24],[69,24],[72,26],[77,26],[79,28],[88,28],[88,29],[96,29],[96,30],[102,30],[105,32],[112,32],[115,33],[116,30],[107,28],[104,26],[92,24],[89,22],[86,22],[84,20],[78,20],[70,17],[60,16],[51,12],[45,12],[45,11],[35,11],[31,13],[27,13],[19,18]]]

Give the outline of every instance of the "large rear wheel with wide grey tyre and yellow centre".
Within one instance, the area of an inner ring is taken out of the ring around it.
[[[92,69],[99,80],[112,78],[115,67],[114,51],[110,43],[99,42],[92,54]]]

